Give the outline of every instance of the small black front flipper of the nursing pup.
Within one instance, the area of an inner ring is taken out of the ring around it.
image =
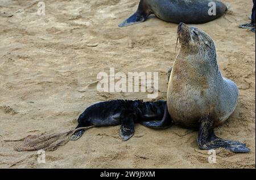
[[[123,141],[129,140],[134,135],[134,118],[133,114],[122,114],[121,115],[121,127],[120,136]]]

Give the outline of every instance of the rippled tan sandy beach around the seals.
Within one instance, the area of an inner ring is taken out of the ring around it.
[[[222,0],[230,5],[224,16],[192,26],[213,38],[222,75],[240,91],[236,110],[216,135],[246,143],[249,153],[218,149],[216,164],[210,164],[197,131],[141,124],[128,141],[119,137],[119,125],[88,129],[79,140],[47,151],[45,164],[35,151],[16,152],[16,143],[4,140],[71,130],[93,103],[166,100],[167,71],[177,55],[177,24],[151,16],[118,27],[138,0],[47,0],[43,16],[38,2],[0,2],[0,168],[255,168],[255,34],[238,28],[250,21],[248,0]],[[110,68],[158,72],[158,97],[97,91],[97,74]]]

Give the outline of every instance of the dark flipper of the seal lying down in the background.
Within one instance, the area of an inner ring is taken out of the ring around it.
[[[138,24],[138,23],[144,22],[147,19],[148,15],[150,14],[151,12],[148,9],[148,5],[146,1],[141,0],[139,2],[138,10],[132,16],[130,16],[130,18],[126,19],[118,26],[124,27],[124,26],[130,26],[132,24]]]

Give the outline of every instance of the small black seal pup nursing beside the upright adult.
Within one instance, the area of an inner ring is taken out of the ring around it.
[[[120,136],[123,141],[134,135],[134,123],[161,120],[166,101],[143,102],[142,100],[113,100],[93,104],[79,116],[76,128],[90,125],[110,126],[121,124]],[[70,140],[79,139],[84,129],[76,131]]]

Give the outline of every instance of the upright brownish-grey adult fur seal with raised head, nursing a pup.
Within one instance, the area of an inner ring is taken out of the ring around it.
[[[222,77],[212,38],[199,28],[184,23],[179,24],[177,36],[181,49],[172,66],[167,91],[170,116],[158,123],[143,124],[152,128],[172,123],[199,128],[200,149],[249,152],[245,144],[221,139],[213,132],[213,128],[224,123],[235,110],[238,88],[236,83]]]

